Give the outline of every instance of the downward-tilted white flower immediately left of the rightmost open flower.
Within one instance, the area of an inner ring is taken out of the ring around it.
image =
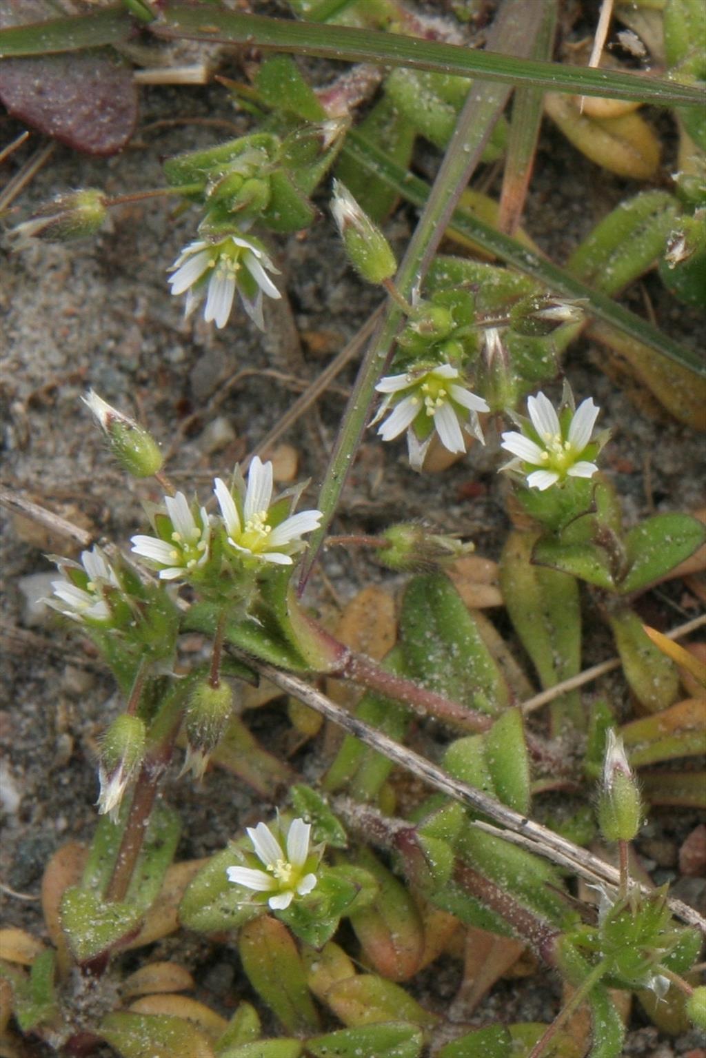
[[[406,431],[410,463],[415,470],[421,469],[434,431],[449,452],[466,451],[461,426],[470,426],[483,440],[478,412],[490,408],[482,397],[465,389],[459,379],[457,368],[440,364],[388,375],[376,386],[385,398],[373,421],[378,422],[392,408],[378,434],[383,441],[392,441]]]

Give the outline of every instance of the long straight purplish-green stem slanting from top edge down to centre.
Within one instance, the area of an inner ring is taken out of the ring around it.
[[[507,0],[492,30],[493,40],[502,39],[509,51],[529,47],[537,32],[539,11],[524,0]],[[451,143],[443,157],[419,223],[399,267],[395,287],[404,300],[414,302],[436,249],[443,237],[454,208],[477,165],[492,128],[509,95],[507,86],[474,83],[458,116]],[[367,422],[375,386],[392,353],[395,335],[402,318],[397,304],[390,304],[373,336],[361,365],[336,446],[319,493],[319,510],[324,512],[320,528],[313,533],[302,563],[300,594],[333,517],[339,497]]]

